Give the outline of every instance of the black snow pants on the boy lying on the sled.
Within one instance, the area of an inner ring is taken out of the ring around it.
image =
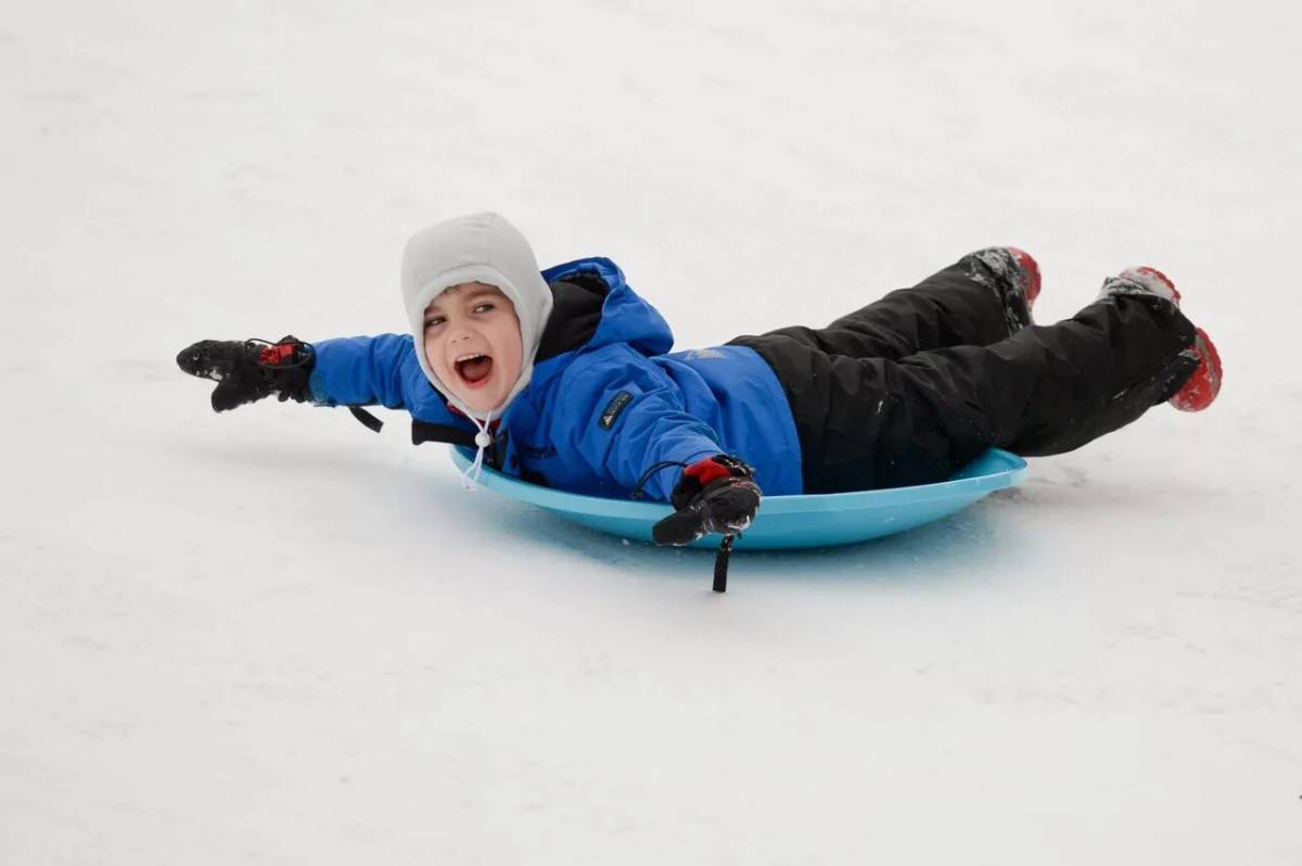
[[[1156,297],[1030,324],[1001,253],[969,254],[822,329],[730,341],[783,383],[805,492],[943,481],[990,447],[1072,451],[1164,402],[1197,369],[1194,326]]]

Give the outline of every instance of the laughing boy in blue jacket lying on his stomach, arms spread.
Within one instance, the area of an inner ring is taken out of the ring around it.
[[[1163,273],[1133,268],[1095,303],[1035,327],[1034,259],[973,253],[823,329],[790,327],[669,354],[660,314],[604,258],[539,272],[496,214],[406,246],[410,336],[197,342],[217,412],[277,395],[406,409],[415,443],[596,496],[672,503],[655,539],[746,529],[769,495],[941,481],[990,447],[1072,451],[1169,401],[1220,389],[1211,340]],[[668,470],[668,471],[667,471]]]

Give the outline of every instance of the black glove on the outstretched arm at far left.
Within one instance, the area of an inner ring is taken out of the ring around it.
[[[307,379],[316,352],[297,337],[266,340],[199,340],[181,349],[176,363],[201,379],[212,379],[212,409],[225,412],[276,395],[280,401],[306,402]]]

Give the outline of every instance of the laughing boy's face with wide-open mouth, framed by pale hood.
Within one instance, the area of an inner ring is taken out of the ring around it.
[[[424,309],[424,357],[448,391],[475,412],[496,409],[519,379],[516,306],[495,285],[462,283]]]

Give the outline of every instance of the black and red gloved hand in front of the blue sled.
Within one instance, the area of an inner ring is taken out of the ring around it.
[[[651,529],[656,544],[690,544],[702,535],[743,531],[759,510],[755,470],[736,457],[715,454],[682,470],[671,503],[677,509]]]

